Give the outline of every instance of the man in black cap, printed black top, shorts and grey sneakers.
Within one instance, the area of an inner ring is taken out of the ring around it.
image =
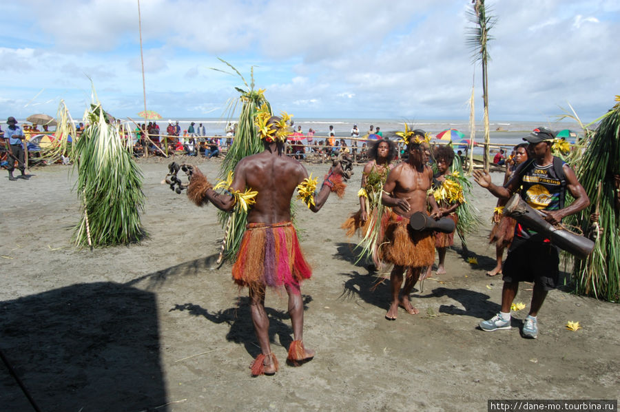
[[[521,198],[534,209],[540,210],[545,220],[552,225],[588,207],[590,199],[577,181],[575,172],[551,153],[555,133],[546,127],[538,127],[524,137],[524,141],[530,143],[528,152],[532,160],[521,163],[504,187],[491,183],[489,174],[482,170],[473,172],[476,183],[494,196],[506,200],[521,187]],[[564,205],[566,189],[575,198],[570,206]],[[524,338],[537,338],[537,314],[547,292],[557,285],[558,266],[558,249],[545,234],[517,223],[515,237],[502,269],[502,309],[490,320],[480,322],[480,328],[489,332],[510,329],[510,306],[517,295],[519,282],[534,282],[530,312],[521,331]]]

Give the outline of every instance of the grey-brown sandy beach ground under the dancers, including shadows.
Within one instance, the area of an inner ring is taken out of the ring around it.
[[[176,159],[185,161],[185,158]],[[251,378],[259,353],[246,292],[215,260],[223,238],[213,206],[198,208],[161,185],[168,160],[138,161],[147,196],[143,242],[76,249],[79,200],[70,167],[31,169],[30,181],[0,192],[0,350],[43,411],[483,411],[488,399],[617,399],[619,305],[558,289],[539,314],[537,340],[513,329],[485,333],[499,311],[502,280],[486,271],[495,198],[474,185],[485,224],[448,249],[448,274],[417,285],[413,305],[384,319],[389,282],[355,264],[356,239],[340,224],[358,209],[361,166],[340,200],[297,223],[313,278],[304,283],[304,342],[316,349],[302,367],[285,365],[292,340],[285,293],[268,293],[273,377]],[[216,180],[220,161],[192,160]],[[327,165],[307,165],[322,176]],[[496,183],[502,174],[494,173]],[[561,267],[562,269],[562,267]],[[565,274],[566,276],[566,274]],[[531,285],[515,302],[529,304]],[[583,329],[568,331],[568,321]],[[157,408],[157,409],[156,409]],[[0,411],[30,411],[0,363]]]

